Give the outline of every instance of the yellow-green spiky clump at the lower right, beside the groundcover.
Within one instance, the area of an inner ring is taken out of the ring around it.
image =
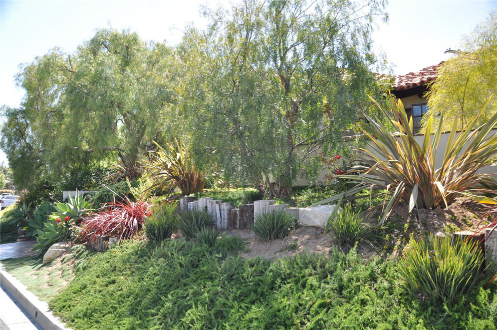
[[[411,238],[398,270],[406,291],[451,305],[477,284],[482,262],[476,242],[431,235],[429,239]]]

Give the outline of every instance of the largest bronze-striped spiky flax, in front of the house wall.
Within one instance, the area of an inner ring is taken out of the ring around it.
[[[497,113],[481,126],[477,126],[478,117],[473,118],[459,133],[453,126],[446,146],[440,145],[444,115],[440,115],[433,131],[432,116],[427,120],[424,139],[419,144],[413,134],[413,119],[407,117],[400,100],[389,113],[372,100],[389,118],[389,126],[394,129],[389,129],[377,117],[371,118],[364,114],[370,123],[364,128],[364,134],[374,152],[360,148],[358,157],[363,164],[354,166],[345,175],[337,176],[354,180],[357,185],[315,205],[340,198],[357,198],[354,195],[363,189],[393,191],[380,218],[379,223],[382,224],[400,201],[409,201],[409,211],[415,206],[447,207],[457,197],[456,192],[495,184],[492,175],[478,173],[478,170],[496,162],[497,134],[492,129],[497,125]],[[440,166],[435,165],[437,148],[445,148]],[[479,190],[491,192],[483,188]]]

